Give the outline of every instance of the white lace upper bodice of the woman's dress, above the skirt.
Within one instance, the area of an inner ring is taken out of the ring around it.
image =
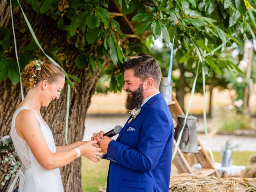
[[[20,160],[21,160],[22,164],[24,165],[25,170],[28,170],[32,166],[40,166],[40,164],[38,163],[38,161],[32,154],[26,140],[20,138],[16,132],[16,128],[15,128],[16,116],[21,110],[24,110],[24,109],[32,110],[26,106],[21,106],[18,110],[16,110],[16,112],[14,113],[14,115],[12,117],[12,126],[11,126],[10,135],[11,135],[15,150],[16,150],[18,156],[20,157]],[[32,110],[32,111],[34,112],[34,110]],[[40,124],[40,129],[42,131],[42,134],[44,135],[44,139],[46,140],[46,143],[47,143],[49,149],[52,152],[56,152],[56,146],[54,143],[54,138],[52,136],[52,131],[50,130],[50,128],[46,124],[46,122],[44,120],[42,120],[38,116],[38,114],[36,114],[36,112],[34,112],[34,114],[36,115],[36,118],[38,119],[38,122]]]

